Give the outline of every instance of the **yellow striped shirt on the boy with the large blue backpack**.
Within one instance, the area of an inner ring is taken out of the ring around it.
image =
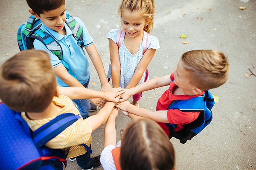
[[[60,94],[59,97],[53,97],[52,102],[55,105],[60,106],[62,109],[57,114],[55,114],[55,116],[49,117],[47,119],[30,120],[26,117],[25,112],[21,113],[22,118],[25,119],[32,131],[37,130],[39,127],[46,124],[60,114],[79,114],[78,109],[73,104],[72,100],[67,96]],[[91,133],[92,128],[90,123],[86,119],[83,120],[81,117],[81,119],[78,119],[78,121],[67,127],[64,131],[58,134],[58,136],[47,142],[45,146],[53,149],[62,149],[64,153],[67,153],[68,148],[71,146],[67,157],[73,158],[87,152],[87,150],[81,144],[86,144],[88,147],[90,146],[92,141]]]

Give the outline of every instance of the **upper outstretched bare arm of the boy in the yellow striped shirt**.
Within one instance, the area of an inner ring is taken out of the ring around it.
[[[118,99],[115,99],[115,97],[125,92],[122,88],[112,88],[105,92],[95,91],[84,87],[58,87],[58,89],[60,94],[68,96],[70,99],[102,98],[111,102],[118,102]]]

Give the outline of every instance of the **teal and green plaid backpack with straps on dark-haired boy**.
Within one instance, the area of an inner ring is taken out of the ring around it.
[[[73,32],[73,37],[77,41],[77,45],[81,48],[84,47],[83,42],[83,30],[79,23],[76,22],[75,18],[70,16],[66,11],[67,18],[65,23],[69,26],[70,30]],[[33,42],[35,39],[40,40],[44,45],[55,54],[58,59],[61,60],[64,67],[69,71],[68,65],[62,60],[62,48],[61,45],[49,35],[47,32],[41,29],[42,22],[40,19],[35,18],[33,15],[29,17],[29,20],[26,23],[23,23],[17,31],[17,41],[22,50],[29,50],[34,48]],[[76,78],[76,77],[75,77]]]

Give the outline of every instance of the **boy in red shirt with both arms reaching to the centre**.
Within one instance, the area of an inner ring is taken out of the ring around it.
[[[169,105],[175,100],[189,100],[193,97],[202,96],[204,91],[217,88],[223,85],[229,74],[227,58],[223,53],[214,50],[194,50],[182,54],[177,69],[173,74],[151,79],[137,87],[128,89],[122,94],[117,108],[132,114],[142,116],[159,122],[159,125],[170,136],[166,123],[175,124],[175,132],[181,130],[186,124],[198,118],[200,111],[180,111],[169,109]],[[173,81],[174,80],[174,81]],[[123,102],[130,96],[141,91],[148,91],[154,88],[170,85],[157,102],[155,112],[143,108],[134,108],[129,102]],[[172,136],[170,136],[171,138]]]

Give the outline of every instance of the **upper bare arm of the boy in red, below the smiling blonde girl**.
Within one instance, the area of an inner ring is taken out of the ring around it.
[[[126,89],[125,93],[121,95],[119,102],[123,102],[129,99],[134,94],[140,93],[142,91],[152,90],[154,88],[163,87],[163,86],[169,85],[171,82],[172,80],[170,79],[170,75],[148,80],[133,88]]]

